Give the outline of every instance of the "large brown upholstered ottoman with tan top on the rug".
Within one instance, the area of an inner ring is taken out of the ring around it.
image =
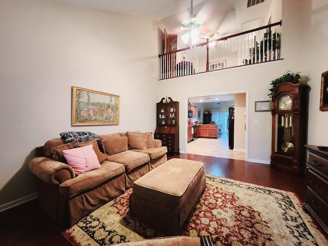
[[[202,162],[170,159],[134,182],[130,215],[167,235],[177,235],[205,187]]]

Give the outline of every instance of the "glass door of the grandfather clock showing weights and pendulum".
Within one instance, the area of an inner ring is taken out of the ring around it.
[[[275,152],[294,155],[294,115],[276,114]]]

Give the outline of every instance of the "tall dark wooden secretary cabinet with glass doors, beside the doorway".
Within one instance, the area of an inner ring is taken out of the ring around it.
[[[156,117],[154,138],[161,140],[168,152],[179,153],[179,102],[163,97],[156,104]]]

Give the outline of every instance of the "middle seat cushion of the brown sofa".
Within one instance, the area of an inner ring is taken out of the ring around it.
[[[125,170],[130,172],[132,169],[150,161],[150,157],[145,153],[127,150],[115,155],[110,155],[107,157],[107,160],[122,163],[125,166]]]

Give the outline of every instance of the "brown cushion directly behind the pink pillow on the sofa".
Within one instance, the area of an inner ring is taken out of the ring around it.
[[[107,155],[105,155],[104,153],[101,153],[101,151],[99,150],[97,140],[95,140],[95,139],[88,141],[88,142],[68,142],[67,144],[54,147],[54,148],[52,148],[52,154],[53,154],[52,158],[55,160],[67,163],[67,161],[62,153],[63,150],[79,148],[79,147],[87,146],[90,144],[92,145],[93,150],[97,155],[99,163],[102,163],[104,160],[107,159]]]

